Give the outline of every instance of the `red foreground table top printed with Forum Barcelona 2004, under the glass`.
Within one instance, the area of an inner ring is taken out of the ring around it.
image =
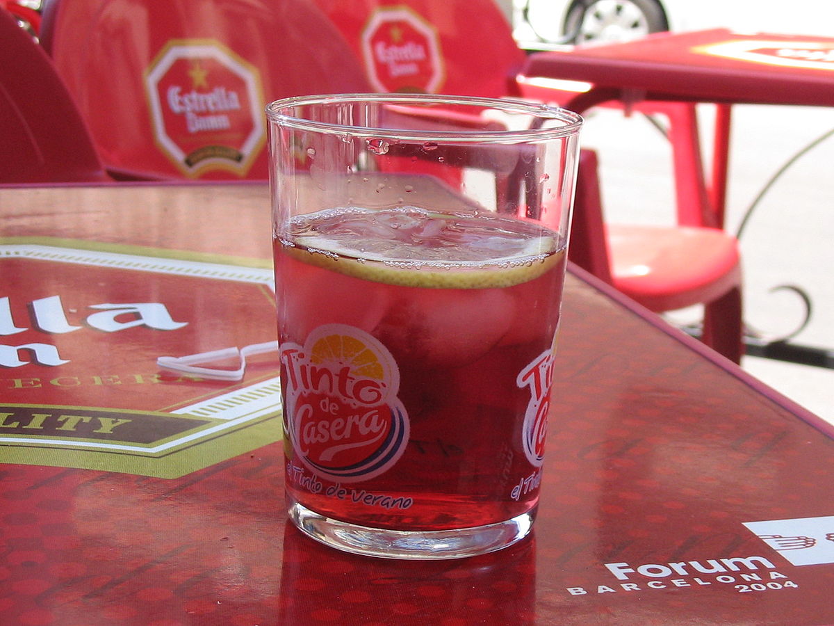
[[[274,410],[214,435],[154,430],[228,425],[240,416],[177,411],[277,374],[269,356],[240,383],[153,361],[269,339],[267,204],[247,184],[0,189],[0,283],[27,329],[3,344],[70,361],[0,376],[0,623],[834,623],[834,429],[575,272],[539,518],[505,551],[405,563],[303,537]],[[63,318],[46,315],[54,295]],[[128,295],[187,326],[90,320]],[[110,437],[120,419],[131,437]],[[53,430],[21,442],[33,423]]]

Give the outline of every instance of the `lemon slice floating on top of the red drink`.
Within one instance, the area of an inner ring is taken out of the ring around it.
[[[555,234],[505,216],[438,214],[415,207],[326,210],[302,216],[284,253],[363,280],[434,289],[519,285],[564,256]]]

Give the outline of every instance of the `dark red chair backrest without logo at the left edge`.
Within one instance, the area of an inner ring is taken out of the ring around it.
[[[52,62],[0,9],[0,183],[106,179]]]

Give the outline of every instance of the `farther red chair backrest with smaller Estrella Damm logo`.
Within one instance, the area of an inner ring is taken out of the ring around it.
[[[525,55],[494,0],[314,0],[375,91],[515,95]]]

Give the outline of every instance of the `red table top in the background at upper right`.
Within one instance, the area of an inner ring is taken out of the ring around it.
[[[834,38],[657,33],[627,43],[530,55],[521,74],[645,90],[646,99],[834,105]]]

